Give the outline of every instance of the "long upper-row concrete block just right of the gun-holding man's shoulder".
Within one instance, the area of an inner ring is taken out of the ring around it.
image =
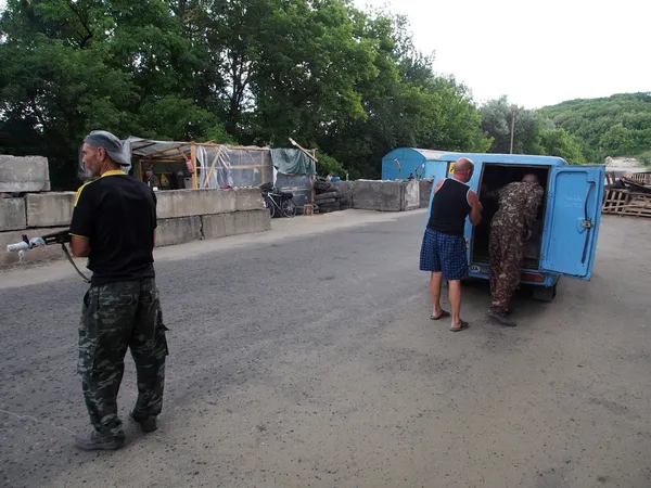
[[[235,211],[233,190],[201,189],[156,192],[161,219]]]

